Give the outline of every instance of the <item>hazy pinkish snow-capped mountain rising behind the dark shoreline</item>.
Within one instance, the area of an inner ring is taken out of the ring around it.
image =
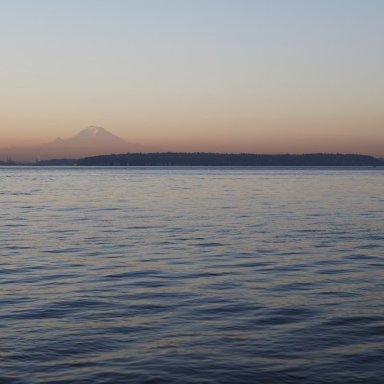
[[[153,147],[129,143],[101,127],[89,126],[69,139],[60,137],[50,143],[30,147],[8,147],[0,149],[0,160],[34,161],[51,158],[83,158],[100,154],[128,152],[151,152]]]

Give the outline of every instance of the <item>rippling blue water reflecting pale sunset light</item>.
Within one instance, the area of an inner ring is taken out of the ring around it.
[[[0,167],[0,383],[384,383],[384,169]]]

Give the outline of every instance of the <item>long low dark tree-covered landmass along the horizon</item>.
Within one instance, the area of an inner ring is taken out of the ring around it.
[[[73,161],[73,160],[72,160]],[[380,166],[382,160],[359,154],[216,154],[165,152],[110,154],[75,161],[77,165],[192,165],[192,166]],[[52,163],[51,163],[52,164]],[[52,164],[53,165],[53,164]],[[67,163],[68,165],[68,163]]]

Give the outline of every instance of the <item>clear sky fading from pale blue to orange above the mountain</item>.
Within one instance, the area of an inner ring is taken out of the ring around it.
[[[0,147],[384,156],[382,0],[0,0]]]

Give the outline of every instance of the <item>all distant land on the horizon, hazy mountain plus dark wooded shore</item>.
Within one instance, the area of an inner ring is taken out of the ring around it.
[[[0,165],[376,167],[384,165],[384,158],[361,154],[155,152],[153,147],[129,143],[102,127],[91,125],[69,139],[58,138],[35,147],[0,149]]]

